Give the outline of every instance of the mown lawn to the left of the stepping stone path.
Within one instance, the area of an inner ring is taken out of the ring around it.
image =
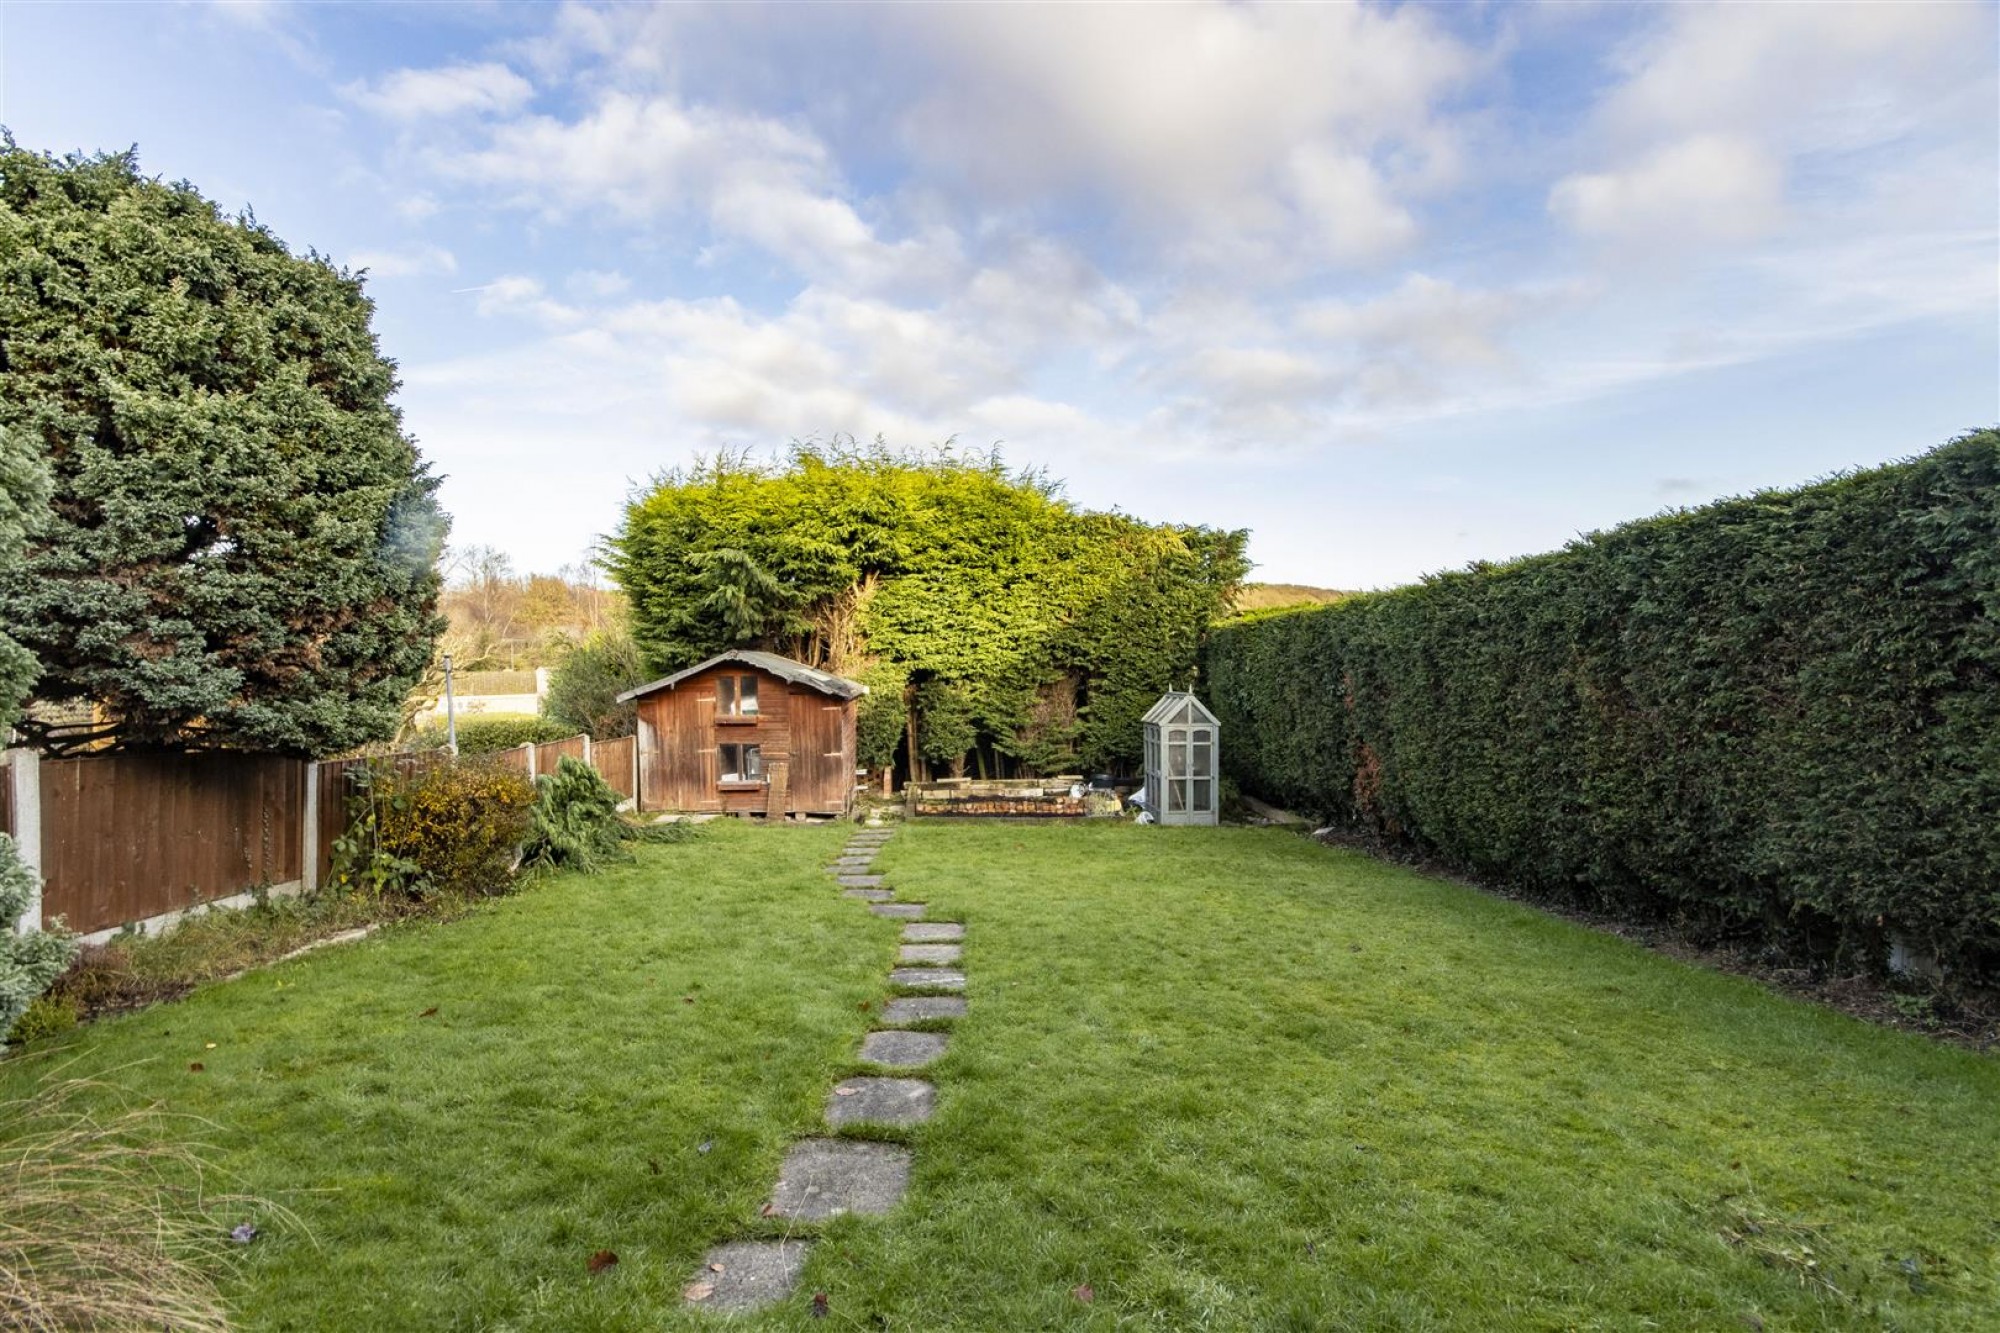
[[[62,1067],[206,1119],[218,1183],[302,1223],[226,1283],[244,1327],[652,1327],[866,1027],[894,929],[830,891],[838,841],[644,847],[38,1043],[0,1099]]]

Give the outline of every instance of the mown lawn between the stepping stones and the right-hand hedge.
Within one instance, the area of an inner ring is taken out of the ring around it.
[[[860,1327],[2000,1327],[1990,1059],[1284,833],[884,867],[972,1013]]]

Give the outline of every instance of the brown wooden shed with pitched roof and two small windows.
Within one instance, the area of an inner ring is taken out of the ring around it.
[[[846,815],[866,685],[738,648],[620,695],[638,703],[638,809]]]

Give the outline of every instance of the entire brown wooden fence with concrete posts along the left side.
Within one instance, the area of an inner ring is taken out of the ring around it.
[[[532,777],[564,757],[588,759],[620,795],[632,795],[630,737],[602,745],[570,737],[482,759]],[[70,931],[92,935],[246,891],[326,883],[334,843],[348,829],[354,771],[384,763],[418,773],[450,757],[308,763],[216,751],[38,761],[10,751],[0,759],[0,831],[16,837],[42,877],[40,905],[20,925],[62,917]]]

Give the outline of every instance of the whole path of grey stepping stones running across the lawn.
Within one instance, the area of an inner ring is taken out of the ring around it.
[[[874,855],[894,829],[860,831],[828,867],[840,897],[858,899],[876,917],[902,921],[898,967],[888,983],[902,991],[964,991],[966,975],[948,963],[964,955],[966,927],[924,921],[922,903],[898,903],[886,875],[870,873]],[[964,995],[896,995],[882,1005],[880,1027],[862,1039],[860,1059],[882,1069],[920,1069],[944,1055],[948,1033],[906,1031],[910,1023],[966,1017]],[[938,1089],[924,1079],[856,1075],[826,1097],[826,1123],[920,1125],[938,1107]],[[854,1133],[854,1131],[850,1131]],[[862,1131],[866,1133],[866,1131]],[[912,1153],[900,1143],[870,1139],[802,1139],[784,1155],[766,1217],[818,1223],[844,1213],[888,1213],[910,1189]],[[730,1241],[702,1259],[682,1289],[694,1309],[746,1311],[786,1299],[812,1251],[810,1239]]]

